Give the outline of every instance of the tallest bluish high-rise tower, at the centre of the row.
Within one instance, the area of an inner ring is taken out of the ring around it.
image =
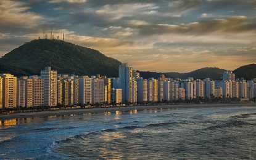
[[[133,68],[126,63],[119,66],[119,87],[122,89],[123,102],[133,101]]]

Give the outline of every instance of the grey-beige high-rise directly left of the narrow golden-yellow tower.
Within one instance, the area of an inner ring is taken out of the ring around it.
[[[92,88],[93,104],[104,102],[104,80],[103,79],[93,79]]]

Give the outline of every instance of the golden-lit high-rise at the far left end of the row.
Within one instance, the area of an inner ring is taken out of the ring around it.
[[[12,74],[0,74],[2,78],[2,108],[17,106],[17,77]]]

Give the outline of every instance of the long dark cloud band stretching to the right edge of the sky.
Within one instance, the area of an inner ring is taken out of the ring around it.
[[[139,33],[150,34],[209,34],[209,33],[241,33],[245,31],[256,31],[256,23],[248,23],[243,16],[230,17],[226,19],[211,19],[201,22],[189,23],[187,25],[142,25]]]

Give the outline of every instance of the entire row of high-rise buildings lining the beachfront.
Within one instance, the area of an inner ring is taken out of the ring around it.
[[[221,81],[205,79],[143,79],[126,63],[119,66],[118,78],[57,74],[46,67],[40,76],[17,78],[0,74],[0,109],[78,104],[124,104],[176,102],[193,98],[254,98],[256,78],[236,79],[225,71]]]

